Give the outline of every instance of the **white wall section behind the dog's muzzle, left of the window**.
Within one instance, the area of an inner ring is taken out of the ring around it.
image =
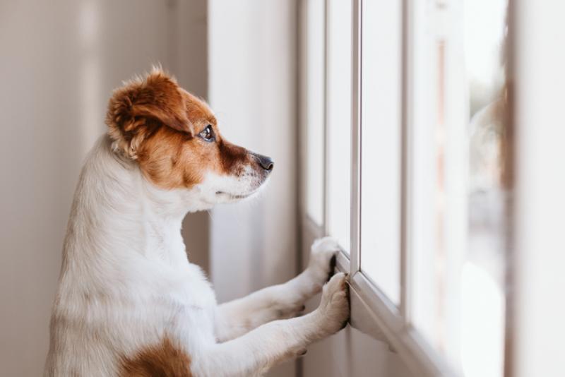
[[[209,1],[210,103],[232,142],[273,157],[261,198],[213,210],[211,262],[219,301],[283,282],[297,255],[296,4]],[[271,376],[293,376],[289,362]]]

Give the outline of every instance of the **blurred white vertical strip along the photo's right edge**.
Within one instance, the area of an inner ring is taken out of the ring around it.
[[[565,376],[565,4],[511,6],[516,210],[509,360],[513,376]]]

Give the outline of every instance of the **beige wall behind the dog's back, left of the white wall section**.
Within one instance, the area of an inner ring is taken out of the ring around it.
[[[0,1],[2,376],[42,373],[71,198],[110,91],[160,61],[206,96],[206,32],[200,0]],[[207,219],[185,223],[203,261]]]

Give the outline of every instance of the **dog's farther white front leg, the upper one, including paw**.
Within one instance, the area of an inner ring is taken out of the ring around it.
[[[218,340],[239,337],[263,323],[292,318],[303,311],[304,303],[320,292],[331,277],[331,261],[337,251],[337,241],[330,237],[319,239],[312,244],[308,268],[294,279],[218,306],[215,322]]]

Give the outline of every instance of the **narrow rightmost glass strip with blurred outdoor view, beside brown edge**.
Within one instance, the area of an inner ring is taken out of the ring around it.
[[[468,242],[461,280],[466,376],[504,375],[506,198],[506,0],[465,0],[469,92]]]

